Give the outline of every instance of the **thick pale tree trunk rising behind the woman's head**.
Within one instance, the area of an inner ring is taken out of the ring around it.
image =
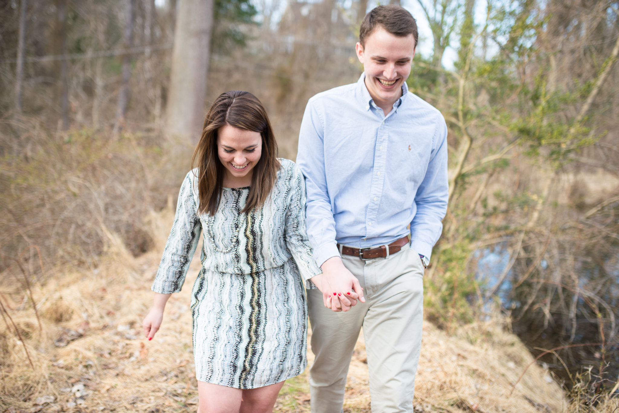
[[[166,131],[197,142],[204,123],[212,0],[180,0],[167,105]]]

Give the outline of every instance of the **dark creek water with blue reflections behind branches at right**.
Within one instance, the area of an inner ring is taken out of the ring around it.
[[[537,356],[543,350],[550,350],[556,347],[581,345],[569,349],[560,349],[556,354],[547,354],[538,361],[540,365],[548,368],[560,383],[564,383],[566,388],[571,388],[577,376],[584,374],[582,380],[591,380],[591,385],[598,386],[602,383],[606,388],[612,388],[618,380],[619,375],[619,346],[617,339],[613,336],[611,326],[608,323],[604,326],[605,346],[590,346],[588,344],[601,342],[600,328],[595,316],[591,316],[590,307],[581,295],[574,295],[571,290],[564,288],[558,292],[555,285],[543,285],[537,292],[537,298],[532,305],[527,306],[530,300],[530,286],[522,285],[514,287],[518,279],[523,274],[517,274],[517,266],[511,267],[507,274],[504,271],[510,264],[510,251],[507,245],[500,244],[492,248],[482,248],[474,251],[473,258],[477,261],[475,278],[480,284],[483,297],[487,297],[489,292],[494,291],[492,297],[487,298],[487,303],[482,311],[488,314],[493,304],[498,301],[501,309],[511,315],[512,328],[522,342],[529,348],[530,352]],[[609,283],[612,287],[599,292],[610,303],[612,311],[617,316],[619,324],[619,288],[616,280],[619,278],[619,265],[613,263],[605,267],[611,268],[613,282]],[[548,269],[545,260],[540,261],[539,271],[543,274]],[[595,266],[591,268],[579,267],[580,273],[577,274],[580,287],[587,287],[587,281],[597,279],[600,274],[596,274]],[[614,274],[617,272],[617,274]],[[599,271],[598,271],[599,272]],[[541,278],[541,277],[540,277]],[[500,284],[500,285],[498,285]],[[560,300],[564,300],[565,305],[561,305]],[[550,306],[547,301],[551,300]],[[571,301],[574,303],[571,303]],[[576,308],[576,324],[573,325],[573,318],[566,314],[569,313],[570,304]],[[523,311],[526,307],[526,311]],[[550,310],[548,310],[550,308]],[[482,317],[484,315],[482,314]],[[605,315],[607,316],[607,315]],[[617,330],[617,326],[615,327]],[[587,370],[591,371],[589,377]],[[600,371],[602,374],[600,375]],[[599,376],[596,378],[595,376]]]

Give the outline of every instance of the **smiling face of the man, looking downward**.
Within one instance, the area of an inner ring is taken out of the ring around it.
[[[415,39],[410,34],[397,37],[378,26],[365,40],[357,43],[357,57],[363,63],[365,84],[377,105],[393,104],[402,96],[402,84],[410,74],[415,56]]]

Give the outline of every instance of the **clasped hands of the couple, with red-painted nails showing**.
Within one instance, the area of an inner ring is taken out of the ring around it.
[[[357,300],[365,303],[359,280],[348,271],[340,257],[327,259],[321,269],[322,274],[311,277],[311,280],[321,290],[324,306],[339,312],[350,310],[357,305]]]

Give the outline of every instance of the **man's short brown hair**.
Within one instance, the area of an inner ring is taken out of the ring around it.
[[[359,43],[365,47],[365,40],[380,26],[387,32],[397,37],[406,37],[410,34],[415,39],[415,47],[417,47],[417,22],[413,16],[404,9],[404,7],[396,6],[395,4],[386,4],[377,6],[365,15],[361,28],[359,30]]]

